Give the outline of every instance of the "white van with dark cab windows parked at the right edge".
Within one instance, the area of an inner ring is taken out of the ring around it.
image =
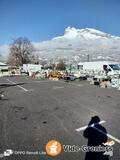
[[[80,62],[78,63],[78,70],[88,76],[119,76],[120,63],[113,61]]]

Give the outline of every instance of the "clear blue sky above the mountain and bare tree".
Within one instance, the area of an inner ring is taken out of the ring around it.
[[[120,36],[120,0],[0,0],[0,45],[19,36],[39,42],[68,26]]]

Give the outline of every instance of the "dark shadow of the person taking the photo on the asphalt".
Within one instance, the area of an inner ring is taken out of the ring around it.
[[[100,118],[98,116],[92,117],[83,133],[84,137],[88,139],[88,149],[105,147],[103,143],[107,142],[107,131],[99,122]],[[86,152],[85,160],[109,160],[109,156],[104,155],[104,153],[104,151],[92,151],[89,149]]]

